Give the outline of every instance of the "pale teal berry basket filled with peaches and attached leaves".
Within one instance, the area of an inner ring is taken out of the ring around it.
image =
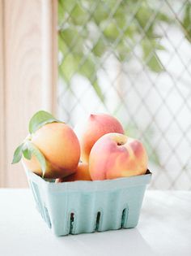
[[[138,224],[151,180],[148,158],[115,117],[91,114],[75,133],[38,111],[28,130],[12,163],[22,161],[36,208],[56,236]]]

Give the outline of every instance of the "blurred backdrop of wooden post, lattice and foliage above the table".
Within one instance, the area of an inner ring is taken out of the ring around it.
[[[1,186],[27,185],[10,162],[44,109],[73,128],[116,116],[146,146],[150,189],[191,189],[189,0],[0,2]]]

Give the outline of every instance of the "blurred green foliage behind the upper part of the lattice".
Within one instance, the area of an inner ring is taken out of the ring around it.
[[[151,20],[153,15],[155,19]],[[96,81],[96,63],[109,50],[114,50],[121,64],[126,63],[140,41],[143,63],[152,72],[163,72],[155,27],[159,22],[170,21],[147,0],[123,0],[120,4],[114,0],[59,0],[58,46],[62,53],[59,73],[67,85],[76,73],[86,77],[104,101]]]

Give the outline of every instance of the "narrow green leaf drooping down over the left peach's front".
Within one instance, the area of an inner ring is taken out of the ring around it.
[[[32,142],[28,141],[28,150],[30,151],[30,154],[36,156],[37,160],[40,163],[40,167],[42,169],[42,177],[45,176],[46,171],[46,160],[45,156],[40,152],[40,150],[34,145]]]

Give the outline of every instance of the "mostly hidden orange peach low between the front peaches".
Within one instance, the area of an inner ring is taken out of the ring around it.
[[[55,182],[74,181],[74,180],[91,180],[89,173],[89,167],[87,163],[79,163],[74,174],[66,176],[65,178],[59,178]]]

